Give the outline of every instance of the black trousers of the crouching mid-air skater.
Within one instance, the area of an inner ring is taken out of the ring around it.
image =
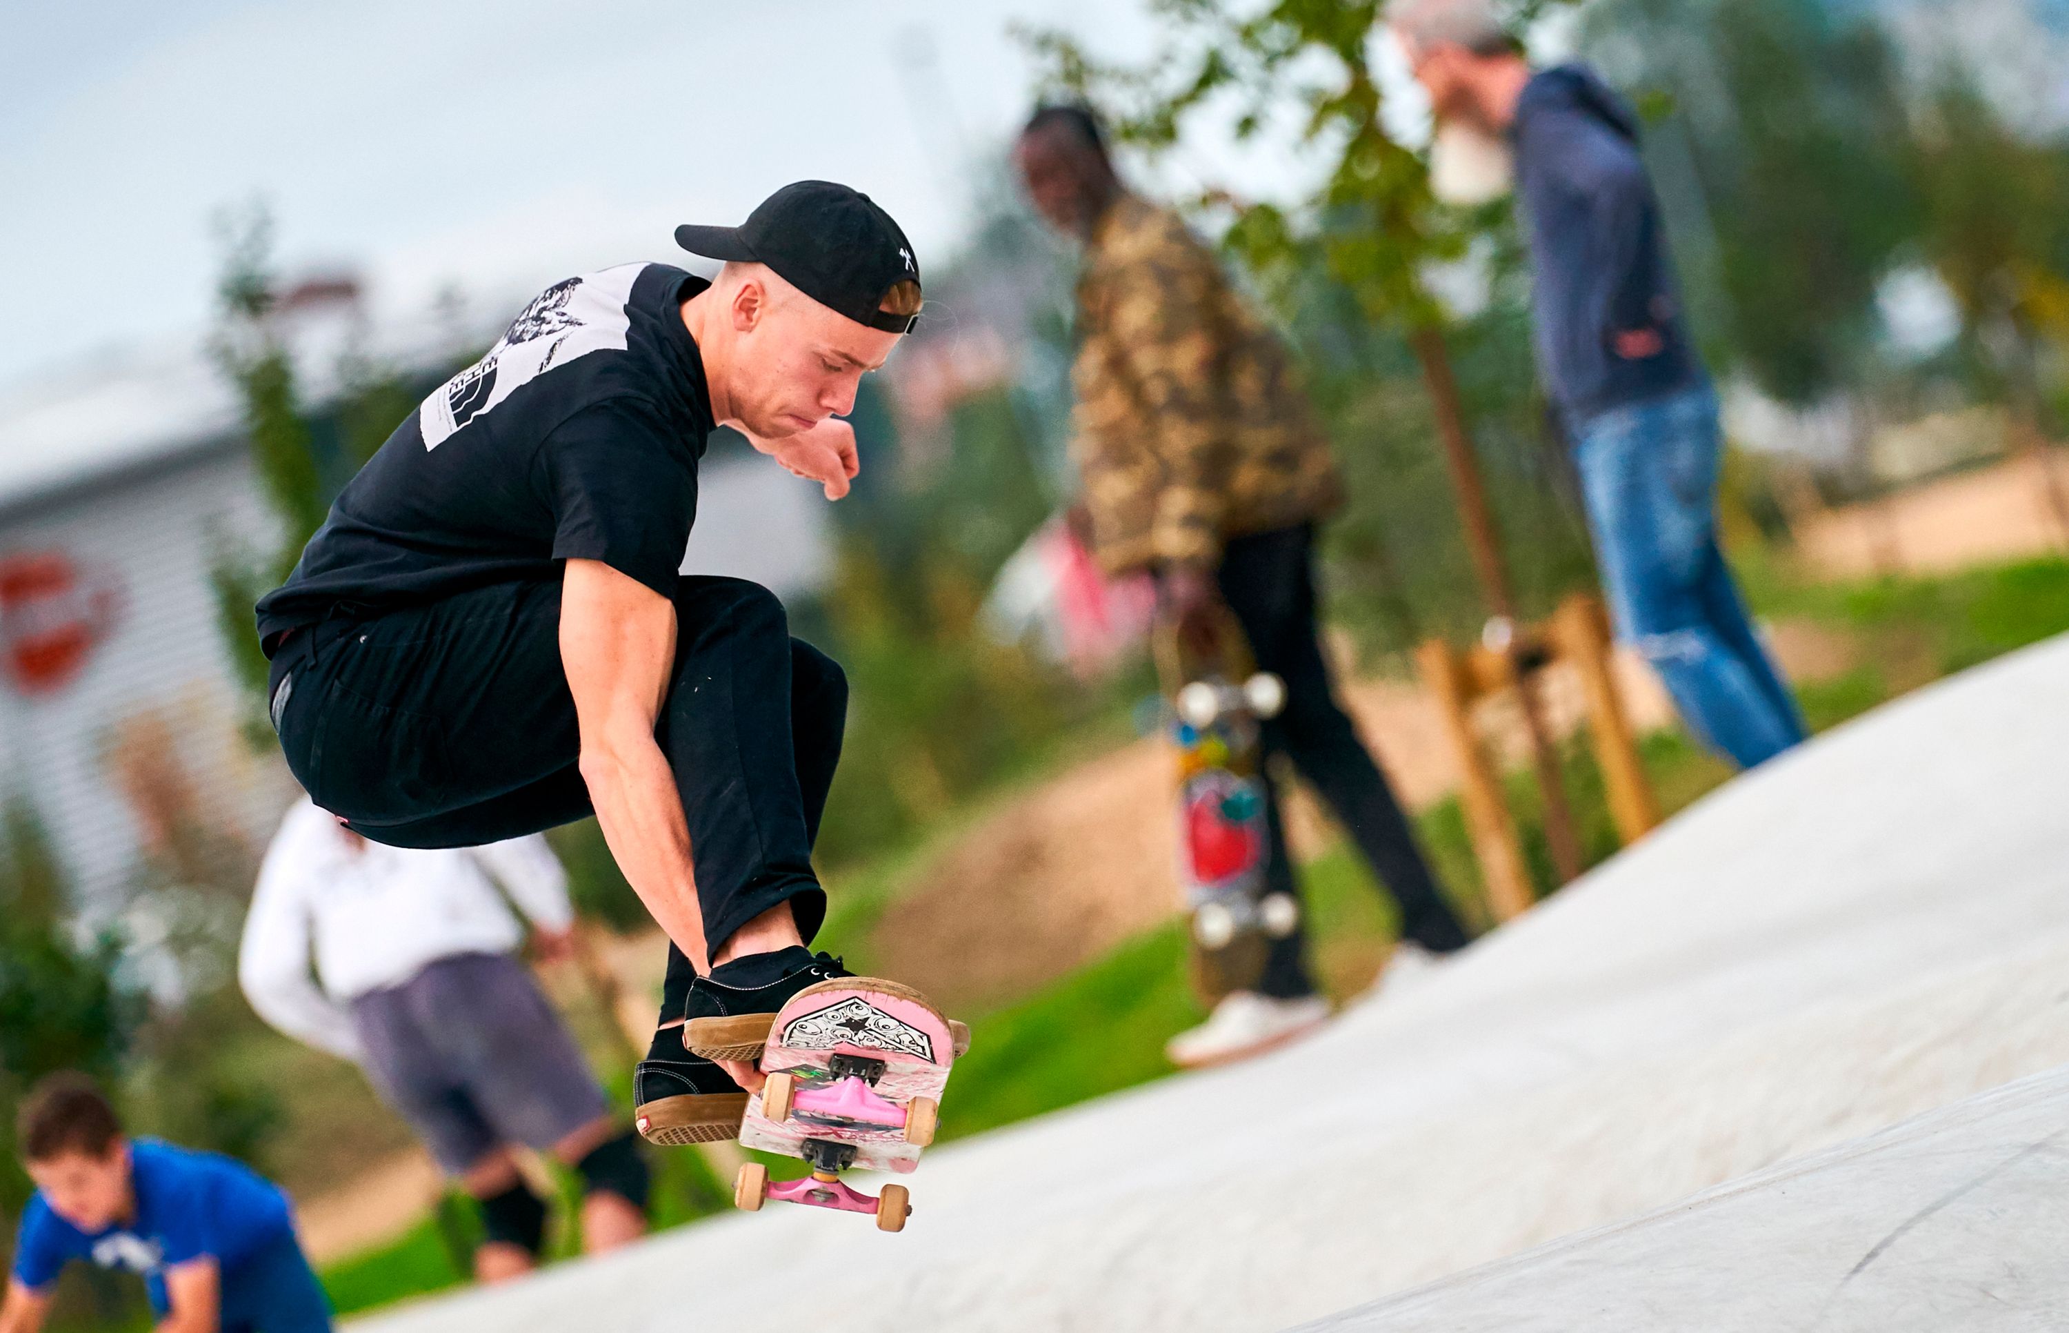
[[[716,950],[778,902],[811,940],[826,919],[811,845],[848,681],[790,638],[757,584],[681,577],[674,615],[654,737],[683,797],[706,940]],[[559,635],[559,582],[302,629],[275,652],[269,687],[288,768],[317,805],[389,847],[478,847],[579,820],[590,789]],[[689,977],[670,946],[664,1018],[681,1016]]]

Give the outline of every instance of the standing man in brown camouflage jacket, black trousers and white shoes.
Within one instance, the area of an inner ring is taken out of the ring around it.
[[[1332,698],[1312,553],[1339,478],[1285,348],[1186,224],[1121,184],[1090,114],[1034,112],[1014,159],[1043,217],[1084,244],[1074,449],[1095,555],[1111,573],[1148,569],[1202,658],[1221,606],[1235,613],[1258,669],[1287,687],[1266,749],[1287,753],[1343,820],[1401,902],[1403,938],[1438,954],[1463,948],[1384,774]],[[1266,795],[1270,888],[1293,892],[1268,782]],[[1275,944],[1258,991],[1231,994],[1171,1056],[1227,1060],[1326,1014],[1293,934]]]

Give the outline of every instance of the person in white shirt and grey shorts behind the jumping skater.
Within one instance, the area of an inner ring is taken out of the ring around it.
[[[482,1281],[528,1273],[544,1240],[546,1205],[511,1145],[581,1174],[592,1252],[646,1232],[637,1138],[517,960],[526,929],[509,902],[542,958],[567,956],[567,873],[538,834],[406,851],[368,842],[302,799],[259,867],[238,952],[238,981],[259,1016],[358,1064],[441,1169],[480,1201]]]

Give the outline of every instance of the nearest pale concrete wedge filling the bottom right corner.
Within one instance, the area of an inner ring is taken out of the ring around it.
[[[2069,1327],[2069,1068],[1301,1333]]]

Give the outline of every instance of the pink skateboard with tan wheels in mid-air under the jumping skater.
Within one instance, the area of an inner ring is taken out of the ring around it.
[[[803,1157],[811,1176],[772,1184],[749,1161],[732,1203],[749,1213],[766,1201],[844,1213],[873,1213],[898,1232],[912,1213],[902,1184],[865,1194],[846,1169],[910,1172],[933,1143],[941,1089],[970,1033],[919,991],[881,977],[840,977],[807,985],[776,1014],[761,1070],[768,1083],[747,1099],[741,1145]]]

